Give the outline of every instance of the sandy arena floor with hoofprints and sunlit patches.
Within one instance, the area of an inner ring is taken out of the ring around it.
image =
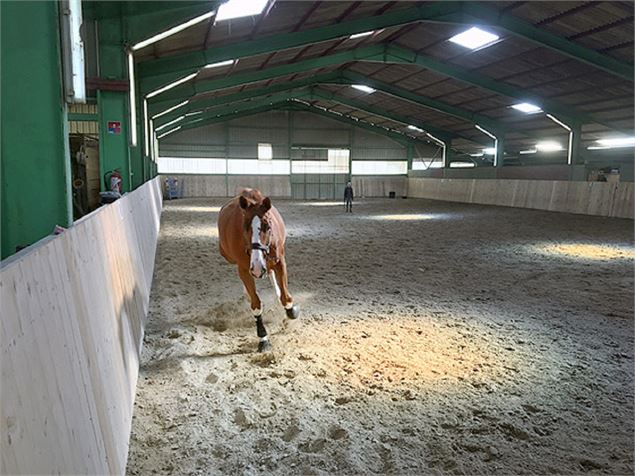
[[[274,201],[257,354],[223,202],[165,204],[129,474],[633,473],[632,221]]]

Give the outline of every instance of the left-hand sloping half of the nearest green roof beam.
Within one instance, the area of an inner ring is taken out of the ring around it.
[[[180,76],[184,76],[202,68],[206,64],[218,61],[296,48],[349,36],[354,33],[405,25],[422,20],[434,20],[436,17],[458,11],[459,9],[453,5],[453,2],[436,2],[405,8],[392,13],[384,13],[383,15],[370,16],[293,33],[270,35],[238,44],[217,46],[207,50],[146,61],[138,65],[138,70],[141,77],[161,76],[166,73],[180,73]],[[164,76],[164,82],[170,82],[169,80],[165,81],[165,79],[166,77]]]

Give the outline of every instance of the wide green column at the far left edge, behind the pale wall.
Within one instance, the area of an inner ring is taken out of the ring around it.
[[[2,258],[72,223],[57,2],[0,2]]]

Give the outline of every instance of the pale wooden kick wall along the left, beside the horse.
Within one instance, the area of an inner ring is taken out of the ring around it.
[[[123,474],[159,179],[1,264],[2,474]]]

